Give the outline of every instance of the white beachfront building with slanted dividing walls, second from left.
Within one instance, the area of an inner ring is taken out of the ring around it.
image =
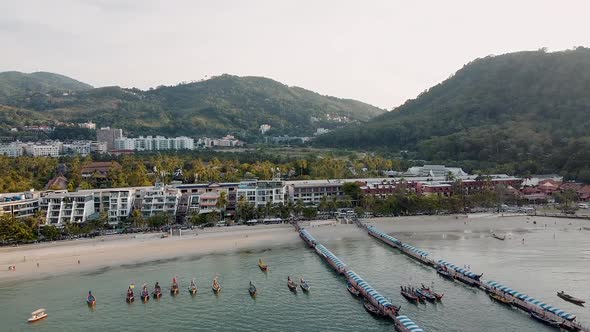
[[[63,226],[83,223],[95,214],[92,193],[49,193],[41,198],[41,209],[47,211],[46,225]]]

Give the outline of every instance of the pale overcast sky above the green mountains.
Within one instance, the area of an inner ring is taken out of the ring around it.
[[[147,89],[265,76],[392,109],[466,63],[590,46],[590,1],[3,0],[0,71]]]

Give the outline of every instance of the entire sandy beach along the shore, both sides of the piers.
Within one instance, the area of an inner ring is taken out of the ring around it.
[[[413,216],[364,220],[379,229],[395,233],[404,241],[423,240],[447,234],[456,237],[489,237],[491,233],[524,238],[534,229],[579,231],[590,227],[588,220],[527,216],[475,214],[468,216]],[[536,224],[534,223],[536,222]],[[547,226],[545,226],[547,225]],[[366,238],[355,225],[309,227],[321,241]],[[590,231],[582,230],[582,232]],[[120,266],[167,258],[230,252],[244,249],[272,248],[299,243],[291,225],[234,226],[209,228],[160,238],[161,234],[135,234],[0,248],[0,282],[36,279],[107,266]],[[79,261],[79,263],[78,263]],[[37,265],[39,264],[39,265]],[[9,271],[9,266],[16,271]]]

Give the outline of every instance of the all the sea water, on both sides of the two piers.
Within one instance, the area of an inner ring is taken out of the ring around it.
[[[493,276],[493,280],[590,321],[587,308],[575,307],[554,295],[562,288],[578,290],[578,286],[586,285],[575,294],[590,297],[590,234],[563,231],[558,237],[568,238],[567,245],[544,246],[553,240],[553,232],[550,236],[546,233],[539,230],[527,234],[528,247],[515,239],[498,241],[478,234],[397,236],[457,265],[469,263],[488,279]],[[401,305],[401,313],[425,331],[555,331],[518,309],[492,302],[482,291],[438,277],[433,269],[369,236],[318,239],[381,294]],[[533,247],[542,249],[530,249]],[[258,258],[269,264],[267,273],[258,268]],[[219,295],[211,291],[216,275],[222,286]],[[167,292],[174,276],[181,284],[181,293],[176,297]],[[286,285],[287,276],[296,280],[305,277],[311,291],[292,293]],[[191,278],[196,278],[199,289],[194,297],[187,290]],[[131,304],[125,302],[130,283],[136,285],[137,295],[143,283],[152,289],[156,281],[163,286],[162,299],[152,298],[145,304],[139,299]],[[256,298],[248,294],[249,281],[258,288]],[[443,301],[416,305],[399,295],[400,285],[420,283],[444,293]],[[94,309],[85,304],[88,290],[97,298]],[[28,324],[30,312],[37,308],[46,308],[48,318]],[[1,284],[0,322],[2,331],[393,330],[391,321],[370,316],[361,302],[347,292],[345,279],[303,241],[300,245],[266,250],[182,257]]]

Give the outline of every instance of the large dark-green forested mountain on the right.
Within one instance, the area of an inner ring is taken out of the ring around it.
[[[590,49],[474,60],[392,112],[318,143],[590,181]]]

